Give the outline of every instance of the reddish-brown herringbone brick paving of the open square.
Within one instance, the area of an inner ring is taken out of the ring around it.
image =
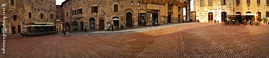
[[[196,23],[121,35],[8,35],[0,58],[176,58],[177,50],[178,58],[269,58],[267,27]]]

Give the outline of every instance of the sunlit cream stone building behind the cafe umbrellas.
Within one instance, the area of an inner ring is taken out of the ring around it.
[[[269,19],[269,0],[196,0],[196,18],[202,23],[212,23],[214,20],[223,23],[234,19],[228,14],[257,14],[258,16],[237,16],[239,22],[246,18]],[[227,20],[226,20],[227,19]]]

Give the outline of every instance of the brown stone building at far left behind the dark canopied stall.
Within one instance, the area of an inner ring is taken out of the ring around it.
[[[28,32],[29,28],[22,27],[33,25],[32,22],[55,23],[56,0],[0,0],[6,4],[6,14],[0,14],[0,22],[5,19],[6,34]],[[2,7],[1,7],[2,8]],[[0,11],[3,13],[3,11]],[[41,18],[41,16],[43,18]],[[1,28],[3,26],[1,25]],[[35,31],[35,30],[31,30]]]

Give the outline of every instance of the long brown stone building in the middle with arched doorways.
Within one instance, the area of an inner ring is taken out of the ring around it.
[[[185,5],[177,0],[65,0],[59,13],[71,31],[128,29],[176,23]]]

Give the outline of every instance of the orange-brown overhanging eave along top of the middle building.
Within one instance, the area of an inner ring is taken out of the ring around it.
[[[170,5],[176,5],[179,7],[185,7],[187,4],[180,2],[178,0],[142,0],[144,3],[152,3],[152,4],[161,4],[165,5],[165,3],[168,3]]]

